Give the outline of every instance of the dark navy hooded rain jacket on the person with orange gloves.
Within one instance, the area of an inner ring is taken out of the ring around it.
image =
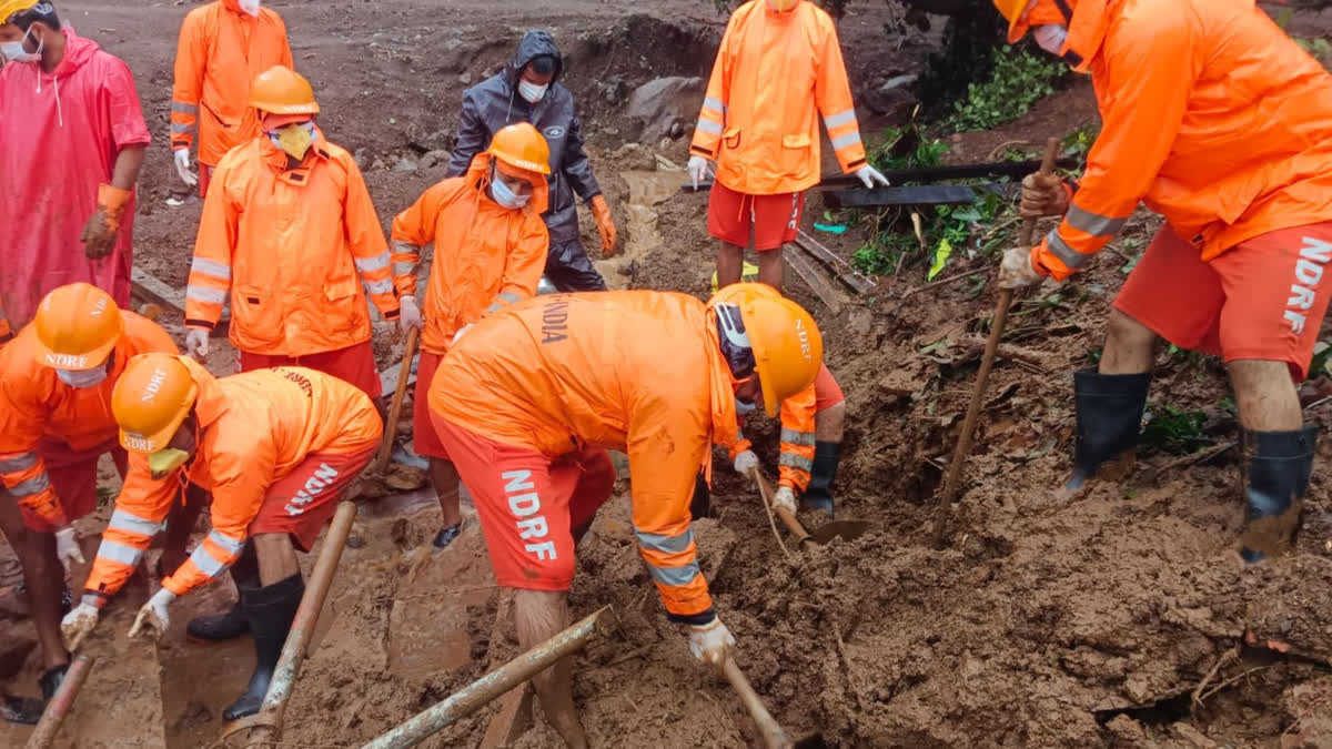
[[[542,55],[555,59],[555,77],[546,96],[537,104],[529,104],[518,96],[518,79],[522,69]],[[550,209],[543,217],[550,229],[551,248],[578,240],[574,193],[583,200],[601,195],[583,151],[582,124],[574,111],[574,97],[559,85],[562,72],[563,59],[555,40],[543,31],[525,33],[518,52],[502,72],[464,92],[457,144],[448,169],[450,177],[465,173],[472,159],[490,147],[490,136],[500,128],[521,121],[535,125],[550,144]]]

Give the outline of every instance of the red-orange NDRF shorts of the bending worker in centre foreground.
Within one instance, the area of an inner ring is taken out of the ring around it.
[[[615,488],[606,450],[585,446],[551,460],[438,416],[434,426],[477,504],[496,582],[567,590],[574,581],[573,529],[591,522]]]

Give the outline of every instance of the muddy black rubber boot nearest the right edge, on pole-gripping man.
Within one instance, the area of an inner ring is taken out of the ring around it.
[[[1289,550],[1300,526],[1317,438],[1317,426],[1244,433],[1248,486],[1244,489],[1247,505],[1240,556],[1245,562],[1255,564]]]

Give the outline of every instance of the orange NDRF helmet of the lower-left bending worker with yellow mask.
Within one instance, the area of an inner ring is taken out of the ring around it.
[[[198,397],[198,385],[178,356],[141,353],[129,360],[111,392],[120,445],[153,453],[170,442]]]

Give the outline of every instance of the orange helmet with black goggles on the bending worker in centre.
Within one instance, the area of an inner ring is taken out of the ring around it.
[[[767,284],[731,284],[710,304],[739,307],[769,416],[814,382],[823,367],[823,336],[805,308]]]

